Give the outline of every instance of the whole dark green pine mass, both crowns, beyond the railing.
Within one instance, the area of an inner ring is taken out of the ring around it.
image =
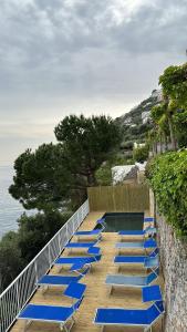
[[[106,116],[66,116],[54,129],[59,144],[25,151],[14,163],[10,194],[27,209],[76,209],[95,172],[121,142],[121,131]]]

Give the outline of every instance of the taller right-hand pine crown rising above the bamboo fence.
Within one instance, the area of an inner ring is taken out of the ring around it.
[[[86,186],[96,184],[96,169],[121,142],[120,127],[104,115],[89,118],[84,115],[66,116],[54,133],[63,144],[71,173],[84,177]]]

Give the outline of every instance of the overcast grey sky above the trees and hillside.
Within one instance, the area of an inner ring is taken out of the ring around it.
[[[70,113],[129,111],[186,48],[186,0],[0,0],[0,165]]]

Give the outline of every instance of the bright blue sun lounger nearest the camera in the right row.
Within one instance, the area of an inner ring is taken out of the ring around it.
[[[164,315],[164,303],[158,286],[143,289],[143,302],[154,301],[147,309],[98,308],[94,323],[102,326],[136,326],[143,331],[152,329],[154,323]]]

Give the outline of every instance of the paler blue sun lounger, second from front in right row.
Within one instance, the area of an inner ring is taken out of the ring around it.
[[[147,276],[124,276],[124,274],[108,274],[105,283],[111,287],[110,293],[113,287],[125,287],[125,288],[143,288],[152,284],[158,278],[159,268],[152,271]]]

